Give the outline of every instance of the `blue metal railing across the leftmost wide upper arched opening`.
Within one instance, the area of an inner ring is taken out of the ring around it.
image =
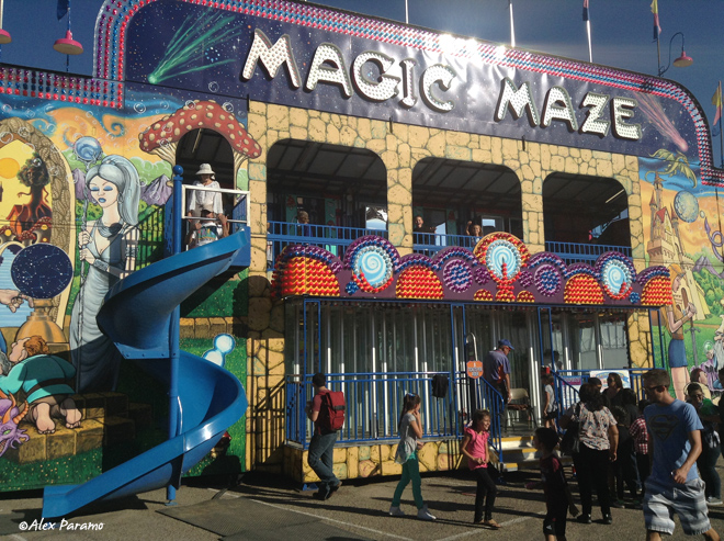
[[[344,257],[347,247],[365,235],[376,235],[387,238],[387,232],[384,229],[269,222],[269,228],[267,230],[267,267],[272,269],[276,257],[290,245],[319,246],[341,259]]]

